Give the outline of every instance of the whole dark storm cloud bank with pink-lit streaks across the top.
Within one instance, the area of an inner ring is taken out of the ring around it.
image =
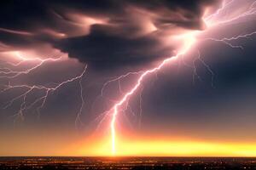
[[[49,43],[94,67],[144,65],[172,54],[166,36],[203,29],[218,1],[1,1],[0,41],[14,48]],[[109,65],[111,64],[111,65]]]

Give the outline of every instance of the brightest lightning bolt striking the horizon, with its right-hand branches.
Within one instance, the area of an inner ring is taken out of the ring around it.
[[[205,22],[207,24],[207,26],[219,26],[219,25],[224,25],[224,24],[227,24],[227,23],[230,23],[232,21],[235,21],[235,20],[240,20],[241,18],[244,18],[244,17],[247,17],[247,16],[251,16],[253,14],[256,14],[256,8],[254,7],[254,5],[256,4],[256,1],[254,1],[249,8],[247,8],[247,11],[245,12],[242,12],[241,14],[238,14],[236,15],[235,17],[233,18],[230,18],[230,19],[227,19],[227,20],[220,20],[220,21],[216,21],[214,23],[211,23],[210,21],[212,20],[215,20],[216,18],[218,18],[218,15],[222,13],[222,11],[224,11],[227,7],[229,7],[232,3],[235,3],[236,0],[230,0],[229,2],[226,2],[224,1],[223,5],[221,8],[219,8],[217,10],[216,13],[214,14],[211,14],[209,16],[207,16],[207,18],[205,18]],[[195,32],[194,32],[195,33]],[[221,39],[218,39],[218,38],[214,38],[214,37],[209,37],[209,38],[206,38],[205,40],[211,40],[211,41],[215,41],[215,42],[224,42],[225,44],[227,44],[228,46],[230,46],[231,48],[241,48],[243,49],[242,46],[238,45],[233,45],[230,43],[230,41],[232,40],[237,40],[239,38],[242,38],[242,37],[251,37],[253,36],[254,34],[256,34],[256,31],[253,31],[251,33],[247,33],[247,34],[241,34],[241,35],[236,35],[235,37],[224,37],[224,38],[221,38]],[[172,56],[172,57],[169,57],[165,60],[163,60],[160,65],[148,70],[148,71],[143,71],[143,73],[138,77],[137,79],[137,83],[134,85],[133,88],[131,88],[130,91],[128,91],[127,93],[124,94],[124,96],[117,102],[113,105],[112,109],[109,110],[107,113],[111,113],[111,122],[110,122],[110,127],[111,127],[111,140],[112,140],[112,154],[115,155],[116,154],[116,149],[115,149],[115,143],[116,143],[116,129],[115,129],[115,122],[116,122],[116,119],[117,119],[117,116],[119,114],[119,110],[121,110],[121,106],[124,105],[125,102],[128,102],[129,100],[129,97],[134,94],[136,91],[137,91],[137,88],[139,88],[142,83],[143,83],[143,79],[145,77],[147,77],[148,75],[150,75],[151,73],[155,73],[157,71],[159,71],[163,66],[169,64],[170,62],[172,62],[173,59],[177,59],[179,56],[182,56],[183,54],[186,54],[189,49],[193,46],[193,44],[195,43],[196,39],[195,39],[195,34],[189,34],[189,35],[183,35],[183,39],[184,39],[184,45],[183,45],[183,49],[180,50],[176,55]],[[213,80],[213,76],[214,76],[214,73],[213,71],[210,69],[210,67],[207,65],[207,63],[205,63],[202,59],[201,59],[201,54],[199,53],[198,51],[198,60],[201,61],[201,63],[207,67],[207,71],[209,71],[211,74],[212,74],[212,80]],[[113,79],[113,81],[119,81],[119,79],[121,79],[122,77],[126,77],[127,75],[129,75],[131,73],[127,73],[126,75],[124,76],[120,76],[116,79]],[[196,69],[195,69],[195,60],[194,60],[194,74],[195,76],[198,76],[197,75],[197,72],[196,72]],[[200,77],[199,77],[200,78]],[[113,82],[113,81],[109,81],[109,82]],[[104,87],[106,85],[108,85],[109,82],[106,82],[104,84]],[[213,81],[212,81],[213,82]],[[213,86],[213,85],[212,85]],[[104,88],[103,87],[103,88]],[[103,89],[102,88],[102,89]],[[103,90],[102,90],[103,91]]]

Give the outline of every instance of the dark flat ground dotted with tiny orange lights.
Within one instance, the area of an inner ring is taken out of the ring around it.
[[[256,169],[256,158],[0,157],[0,169]]]

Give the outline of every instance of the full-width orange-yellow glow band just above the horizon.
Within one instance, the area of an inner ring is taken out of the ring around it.
[[[113,156],[109,136],[93,135],[85,139],[74,133],[2,133],[1,156]],[[48,140],[42,139],[50,139]],[[74,142],[76,140],[77,142]],[[114,156],[230,156],[256,157],[256,141],[210,141],[160,136],[116,136]],[[10,150],[12,148],[12,150]]]

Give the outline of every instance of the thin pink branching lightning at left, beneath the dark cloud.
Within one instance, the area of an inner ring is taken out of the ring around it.
[[[20,89],[23,90],[24,92],[22,92],[20,95],[16,96],[15,98],[9,100],[4,106],[3,109],[7,109],[10,106],[12,106],[15,101],[17,100],[21,100],[20,103],[20,109],[19,111],[17,111],[17,113],[14,115],[15,117],[15,122],[18,120],[23,121],[25,119],[25,112],[27,110],[32,109],[32,107],[34,107],[35,105],[38,105],[38,107],[36,108],[36,111],[38,112],[38,116],[40,116],[40,110],[44,107],[46,100],[49,97],[49,94],[53,94],[56,90],[58,90],[59,88],[63,87],[64,85],[66,85],[67,83],[71,83],[71,82],[75,82],[77,80],[79,80],[79,89],[80,89],[80,98],[81,98],[81,106],[79,108],[79,112],[77,114],[77,117],[75,119],[75,125],[78,126],[78,123],[81,123],[80,121],[80,116],[82,114],[83,111],[83,107],[84,107],[84,97],[83,97],[83,86],[82,86],[82,79],[84,77],[84,73],[87,69],[87,65],[84,66],[84,70],[82,71],[82,73],[79,76],[67,79],[66,81],[63,82],[52,82],[49,83],[47,85],[28,85],[28,84],[12,84],[11,80],[13,80],[14,78],[20,77],[21,75],[28,75],[31,74],[32,71],[36,71],[39,67],[41,67],[42,65],[45,65],[48,62],[57,62],[57,61],[61,61],[62,57],[57,57],[57,58],[46,58],[46,59],[41,59],[41,58],[26,58],[24,56],[22,56],[20,54],[20,52],[14,52],[15,57],[17,59],[19,59],[20,61],[17,63],[12,63],[12,62],[6,62],[8,65],[12,66],[12,67],[18,67],[20,65],[22,65],[23,63],[34,63],[36,62],[36,65],[33,65],[32,67],[25,69],[23,71],[15,71],[9,67],[3,67],[0,68],[2,71],[0,71],[0,74],[3,75],[0,78],[5,78],[8,79],[9,83],[7,85],[3,85],[3,89],[0,91],[0,94],[3,94],[5,92],[8,92],[10,90],[14,90],[14,89]],[[29,105],[27,104],[27,96],[29,94],[32,93],[36,93],[42,91],[44,92],[43,96],[39,96],[37,97],[32,103],[30,103]]]

